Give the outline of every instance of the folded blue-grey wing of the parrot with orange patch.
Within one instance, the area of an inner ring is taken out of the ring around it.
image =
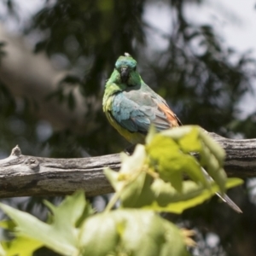
[[[141,90],[119,92],[113,96],[113,119],[131,132],[147,133],[151,124],[157,131],[178,126],[177,116],[159,97]]]

